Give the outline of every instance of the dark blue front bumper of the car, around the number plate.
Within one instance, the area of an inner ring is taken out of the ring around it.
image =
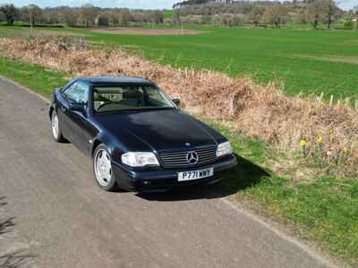
[[[154,190],[167,190],[185,185],[212,184],[224,179],[225,173],[237,164],[236,156],[229,155],[215,163],[196,166],[188,169],[162,170],[162,171],[132,171],[118,163],[112,163],[115,180],[120,188],[126,190],[145,192]],[[214,176],[190,181],[178,181],[178,172],[204,170],[214,168]]]

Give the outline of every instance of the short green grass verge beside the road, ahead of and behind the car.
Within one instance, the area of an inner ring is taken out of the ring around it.
[[[8,77],[42,96],[69,79],[63,72],[42,66],[0,58],[0,75]],[[266,144],[232,132],[227,126],[207,121],[230,139],[239,165],[220,184],[228,198],[288,224],[303,239],[314,241],[331,255],[358,267],[358,180],[320,176],[295,180],[277,176],[272,163],[282,155]]]

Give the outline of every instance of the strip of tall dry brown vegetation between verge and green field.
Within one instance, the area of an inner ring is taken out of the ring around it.
[[[322,158],[330,161],[345,150],[349,157],[343,169],[358,173],[358,114],[345,105],[289,97],[273,84],[260,86],[215,71],[161,66],[119,49],[94,50],[61,38],[1,39],[0,53],[75,76],[134,75],[153,80],[170,96],[181,98],[188,111],[230,121],[233,130],[284,150],[300,150],[303,138],[314,148],[321,135]]]

